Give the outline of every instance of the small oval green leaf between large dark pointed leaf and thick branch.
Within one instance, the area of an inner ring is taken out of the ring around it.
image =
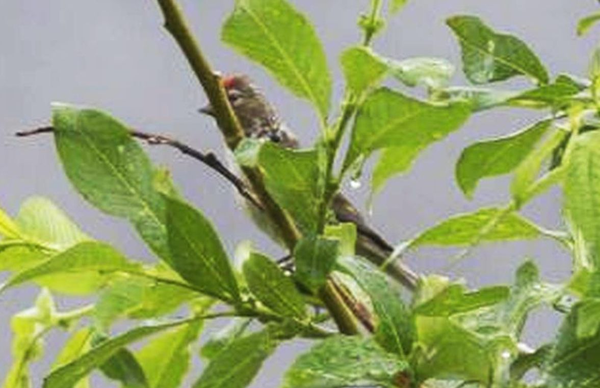
[[[302,295],[292,278],[261,254],[251,253],[244,262],[244,277],[248,288],[263,305],[286,317],[307,317]]]

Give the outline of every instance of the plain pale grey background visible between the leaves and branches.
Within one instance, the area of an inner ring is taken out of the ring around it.
[[[316,119],[307,103],[292,97],[253,65],[219,40],[220,23],[233,1],[182,0],[206,55],[215,68],[248,73],[277,101],[281,116],[305,145],[317,135]],[[356,19],[368,0],[296,0],[308,14],[328,53],[335,77],[335,96],[343,88],[338,55],[360,39]],[[510,31],[530,44],[553,75],[584,75],[598,31],[577,38],[580,17],[598,10],[595,0],[411,0],[389,22],[374,48],[391,58],[438,56],[460,69],[460,52],[444,20],[452,14],[477,14],[493,28]],[[132,257],[149,257],[129,225],[103,215],[85,203],[62,173],[50,137],[15,139],[16,130],[47,124],[52,101],[84,104],[113,113],[136,128],[169,133],[199,149],[221,151],[221,138],[210,119],[196,113],[205,97],[171,38],[161,28],[155,1],[142,0],[2,0],[0,1],[0,206],[16,213],[30,195],[49,197],[92,236],[117,246]],[[464,84],[457,73],[455,84]],[[523,81],[507,84],[524,86]],[[474,116],[462,130],[424,152],[407,176],[393,179],[374,205],[373,224],[398,243],[446,216],[508,200],[509,179],[489,179],[468,201],[454,182],[460,151],[475,140],[518,130],[543,112],[503,109]],[[151,149],[158,163],[169,166],[184,194],[212,219],[232,252],[250,239],[274,255],[279,251],[254,228],[233,203],[230,187],[209,170],[169,149]],[[367,190],[350,195],[361,206]],[[560,227],[560,193],[544,195],[525,213],[546,227]],[[479,286],[506,282],[525,257],[541,266],[545,278],[568,275],[569,258],[553,242],[485,246],[452,270],[445,270],[454,253],[427,249],[409,260],[419,270],[443,271],[465,277]],[[10,316],[33,302],[34,287],[0,296],[0,376],[10,365]],[[73,305],[75,299],[62,300]],[[66,303],[66,304],[65,304]],[[547,340],[557,320],[540,312],[526,328],[532,344]],[[64,334],[50,336],[46,358],[52,360]],[[285,345],[265,366],[253,387],[275,388],[281,374],[307,343]],[[34,368],[34,386],[48,362]],[[200,366],[194,373],[198,374]],[[97,383],[97,387],[109,386]]]

